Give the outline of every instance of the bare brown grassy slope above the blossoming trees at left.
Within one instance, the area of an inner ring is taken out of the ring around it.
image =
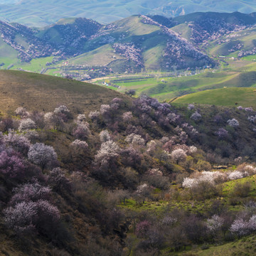
[[[67,105],[73,112],[89,112],[120,95],[113,90],[75,80],[49,75],[0,70],[0,110],[13,114],[17,107],[28,110],[52,111]]]

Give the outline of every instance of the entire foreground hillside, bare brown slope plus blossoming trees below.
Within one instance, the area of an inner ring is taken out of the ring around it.
[[[1,254],[254,250],[254,110],[0,75]]]

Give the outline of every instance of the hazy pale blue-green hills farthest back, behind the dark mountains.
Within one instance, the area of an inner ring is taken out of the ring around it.
[[[256,11],[255,1],[236,0],[230,5],[229,0],[214,0],[208,4],[207,0],[103,0],[84,3],[79,0],[43,2],[26,0],[4,0],[0,4],[0,17],[9,21],[16,21],[28,26],[45,26],[63,17],[92,18],[103,23],[110,23],[120,18],[127,18],[134,14],[160,14],[164,16],[179,16],[198,11],[251,13]]]

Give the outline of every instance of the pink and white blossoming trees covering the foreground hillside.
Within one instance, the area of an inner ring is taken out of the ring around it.
[[[137,255],[154,255],[166,245],[180,250],[252,233],[253,202],[234,214],[214,201],[223,196],[225,181],[255,174],[255,166],[242,164],[254,159],[245,142],[245,135],[253,134],[247,117],[252,114],[195,105],[175,108],[146,95],[132,102],[116,97],[99,110],[77,115],[65,105],[47,113],[18,107],[16,117],[0,121],[4,223],[18,237],[46,236],[71,255],[75,250],[86,255],[85,248],[87,255],[94,250],[122,255],[124,247]],[[213,165],[233,163],[240,166],[211,171]],[[238,184],[228,203],[246,203],[251,190],[249,183]],[[168,208],[154,217],[150,211],[117,207],[128,198],[140,206],[208,199],[212,207],[203,215]],[[85,230],[95,228],[84,235],[80,249],[60,242],[76,239],[72,234],[80,231],[75,221]],[[136,241],[125,239],[132,227]]]

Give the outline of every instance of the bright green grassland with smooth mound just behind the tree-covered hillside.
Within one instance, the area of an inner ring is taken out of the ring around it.
[[[217,73],[202,73],[193,76],[183,76],[181,78],[146,78],[138,75],[138,79],[112,78],[115,85],[124,92],[127,89],[134,89],[137,95],[146,93],[159,100],[171,100],[174,97],[186,95],[188,93],[198,92],[223,87],[253,87],[256,85],[256,73],[241,73],[240,71],[223,71]],[[164,80],[164,82],[161,82]]]

